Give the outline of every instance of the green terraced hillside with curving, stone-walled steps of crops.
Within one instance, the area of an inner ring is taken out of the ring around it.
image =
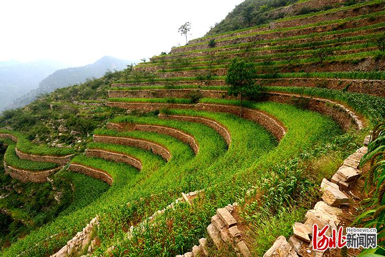
[[[0,131],[6,172],[33,182],[59,176],[73,192],[59,216],[2,255],[175,256],[209,238],[211,216],[234,202],[245,244],[263,255],[385,118],[385,54],[376,43],[385,2],[338,3],[194,39],[117,73],[106,98],[72,103],[84,116],[127,110],[103,121],[84,152]],[[262,86],[243,107],[224,82],[235,57],[255,64]],[[249,229],[256,226],[269,237]],[[207,250],[235,254],[211,241]]]

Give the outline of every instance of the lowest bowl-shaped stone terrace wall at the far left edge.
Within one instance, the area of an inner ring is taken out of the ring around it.
[[[8,173],[12,179],[20,180],[21,182],[34,182],[34,183],[44,183],[47,182],[47,177],[57,171],[59,171],[62,167],[57,167],[50,170],[42,170],[42,171],[31,171],[31,170],[23,170],[14,168],[9,166],[4,161],[4,169],[5,172]]]

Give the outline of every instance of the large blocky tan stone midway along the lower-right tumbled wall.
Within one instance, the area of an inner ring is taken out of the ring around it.
[[[321,189],[324,190],[322,200],[333,207],[349,205],[349,197],[342,193],[338,185],[323,179]]]

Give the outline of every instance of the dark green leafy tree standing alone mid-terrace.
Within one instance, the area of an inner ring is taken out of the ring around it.
[[[240,116],[242,116],[243,97],[251,95],[255,90],[256,68],[253,63],[247,63],[243,60],[234,59],[227,71],[225,82],[230,87],[228,94],[241,95]]]

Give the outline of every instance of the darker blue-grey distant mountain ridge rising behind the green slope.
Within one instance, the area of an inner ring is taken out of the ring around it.
[[[23,97],[16,99],[13,104],[9,105],[7,108],[23,107],[34,101],[36,97],[42,93],[49,93],[57,88],[80,84],[85,82],[87,78],[101,77],[107,70],[123,70],[131,63],[133,62],[111,56],[104,56],[93,64],[56,70],[51,75],[44,78],[44,80],[38,84],[36,89],[31,90]]]

